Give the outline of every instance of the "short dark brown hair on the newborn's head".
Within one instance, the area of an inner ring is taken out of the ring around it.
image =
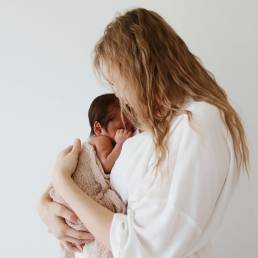
[[[107,93],[96,97],[89,108],[88,118],[91,127],[90,135],[94,135],[94,123],[97,121],[101,127],[107,129],[108,123],[120,112],[119,99],[115,94]]]

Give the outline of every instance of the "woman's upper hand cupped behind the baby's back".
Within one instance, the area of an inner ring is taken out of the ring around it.
[[[74,173],[80,152],[81,141],[76,139],[73,145],[68,146],[58,154],[52,172],[52,186],[57,192],[60,184],[64,180],[71,178],[71,175]]]

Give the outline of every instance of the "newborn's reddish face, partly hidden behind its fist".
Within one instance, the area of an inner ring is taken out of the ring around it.
[[[133,125],[128,120],[125,121],[125,124],[126,124],[127,130],[132,131],[132,132],[134,131]],[[125,129],[125,127],[123,125],[123,121],[122,121],[120,112],[117,112],[114,119],[108,123],[107,129],[105,130],[105,132],[106,132],[107,136],[109,136],[110,138],[112,138],[114,140],[116,131],[119,129]]]

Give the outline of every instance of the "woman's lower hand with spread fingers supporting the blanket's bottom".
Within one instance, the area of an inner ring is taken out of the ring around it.
[[[64,219],[66,218],[77,223],[77,216],[65,206],[53,202],[48,195],[48,190],[43,194],[38,203],[39,216],[47,225],[48,231],[62,241],[66,249],[70,248],[70,250],[81,251],[83,244],[94,240],[93,235],[69,227]]]

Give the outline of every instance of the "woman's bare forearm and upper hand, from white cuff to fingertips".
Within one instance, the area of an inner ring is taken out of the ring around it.
[[[64,149],[57,157],[52,173],[52,186],[65,202],[77,214],[94,237],[109,246],[109,231],[113,213],[87,196],[72,180],[79,154],[81,142]]]

